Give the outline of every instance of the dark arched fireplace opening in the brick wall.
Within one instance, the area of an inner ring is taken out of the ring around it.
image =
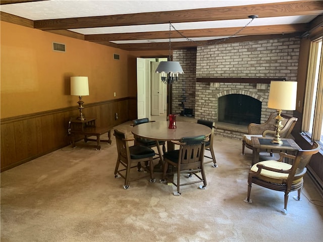
[[[219,98],[218,121],[235,125],[260,124],[261,101],[243,94]]]

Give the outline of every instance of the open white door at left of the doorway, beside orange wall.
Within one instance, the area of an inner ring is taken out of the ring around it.
[[[146,61],[137,58],[137,117],[146,117]]]

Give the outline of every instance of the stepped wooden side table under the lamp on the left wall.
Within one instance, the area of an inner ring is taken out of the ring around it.
[[[84,120],[80,120],[77,118],[71,119],[71,140],[72,147],[80,146],[80,147],[89,147],[96,148],[97,150],[101,149],[100,142],[106,142],[111,144],[111,130],[113,127],[96,127],[96,118],[95,117],[87,117]],[[107,140],[101,140],[100,136],[107,133]],[[88,141],[96,141],[96,145],[92,144],[80,144],[75,143],[75,135],[83,135],[84,142]],[[96,139],[90,139],[88,137],[96,136]]]

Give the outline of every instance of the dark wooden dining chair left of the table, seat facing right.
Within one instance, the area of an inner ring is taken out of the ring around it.
[[[153,178],[153,159],[155,152],[149,147],[142,145],[129,146],[129,142],[134,139],[127,139],[126,134],[118,130],[114,130],[114,136],[116,137],[118,158],[115,168],[115,178],[123,177],[125,179],[124,189],[129,188],[129,182],[137,179],[147,177],[148,175],[136,175],[134,178],[130,177],[130,170],[137,168],[140,171],[141,162],[145,163],[144,169],[149,171],[150,182],[155,183],[156,179]],[[136,165],[134,165],[136,162]],[[120,165],[122,165],[120,167]],[[149,166],[149,167],[148,167]]]

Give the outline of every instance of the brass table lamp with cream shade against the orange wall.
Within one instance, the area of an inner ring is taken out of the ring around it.
[[[84,103],[82,101],[82,96],[89,95],[89,82],[87,77],[71,77],[71,95],[79,96],[79,101],[77,103],[79,104],[78,109],[80,111],[80,115],[77,119],[85,120],[82,113]]]

